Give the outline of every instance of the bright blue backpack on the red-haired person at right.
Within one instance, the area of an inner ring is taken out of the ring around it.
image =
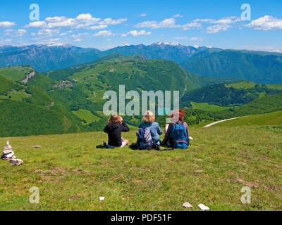
[[[185,127],[183,126],[183,122],[181,124],[175,124],[171,131],[171,147],[174,148],[188,148],[189,139],[187,138],[188,134],[186,132]]]

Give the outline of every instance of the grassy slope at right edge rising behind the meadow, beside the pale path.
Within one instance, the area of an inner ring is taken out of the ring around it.
[[[252,115],[236,120],[230,120],[214,126],[242,126],[242,125],[282,125],[282,111]]]

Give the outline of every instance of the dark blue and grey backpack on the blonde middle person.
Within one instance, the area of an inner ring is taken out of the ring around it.
[[[136,146],[140,150],[151,150],[153,148],[153,140],[151,130],[149,128],[138,128],[136,133]]]

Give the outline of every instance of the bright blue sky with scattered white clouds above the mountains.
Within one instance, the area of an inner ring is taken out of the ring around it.
[[[30,4],[39,21],[30,20]],[[240,7],[250,4],[251,20]],[[178,42],[282,52],[282,1],[11,0],[0,3],[0,45],[73,44],[110,49]]]

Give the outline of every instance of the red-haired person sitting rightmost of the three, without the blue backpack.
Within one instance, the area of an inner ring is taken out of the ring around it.
[[[174,110],[173,113],[171,114],[171,122],[169,124],[166,124],[166,128],[164,129],[164,140],[162,141],[161,145],[162,146],[168,146],[168,147],[173,147],[171,146],[171,143],[173,140],[171,140],[171,131],[173,131],[173,127],[176,124],[182,124],[186,134],[187,134],[187,139],[184,141],[187,141],[189,144],[189,127],[186,122],[184,122],[184,116],[185,112],[184,110]]]

